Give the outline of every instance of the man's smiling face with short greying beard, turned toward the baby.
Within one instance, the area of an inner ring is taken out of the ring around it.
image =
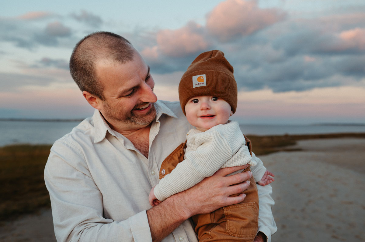
[[[102,83],[104,101],[101,114],[116,131],[128,131],[149,125],[156,117],[154,80],[149,66],[139,53],[127,63],[99,60],[96,75]]]

